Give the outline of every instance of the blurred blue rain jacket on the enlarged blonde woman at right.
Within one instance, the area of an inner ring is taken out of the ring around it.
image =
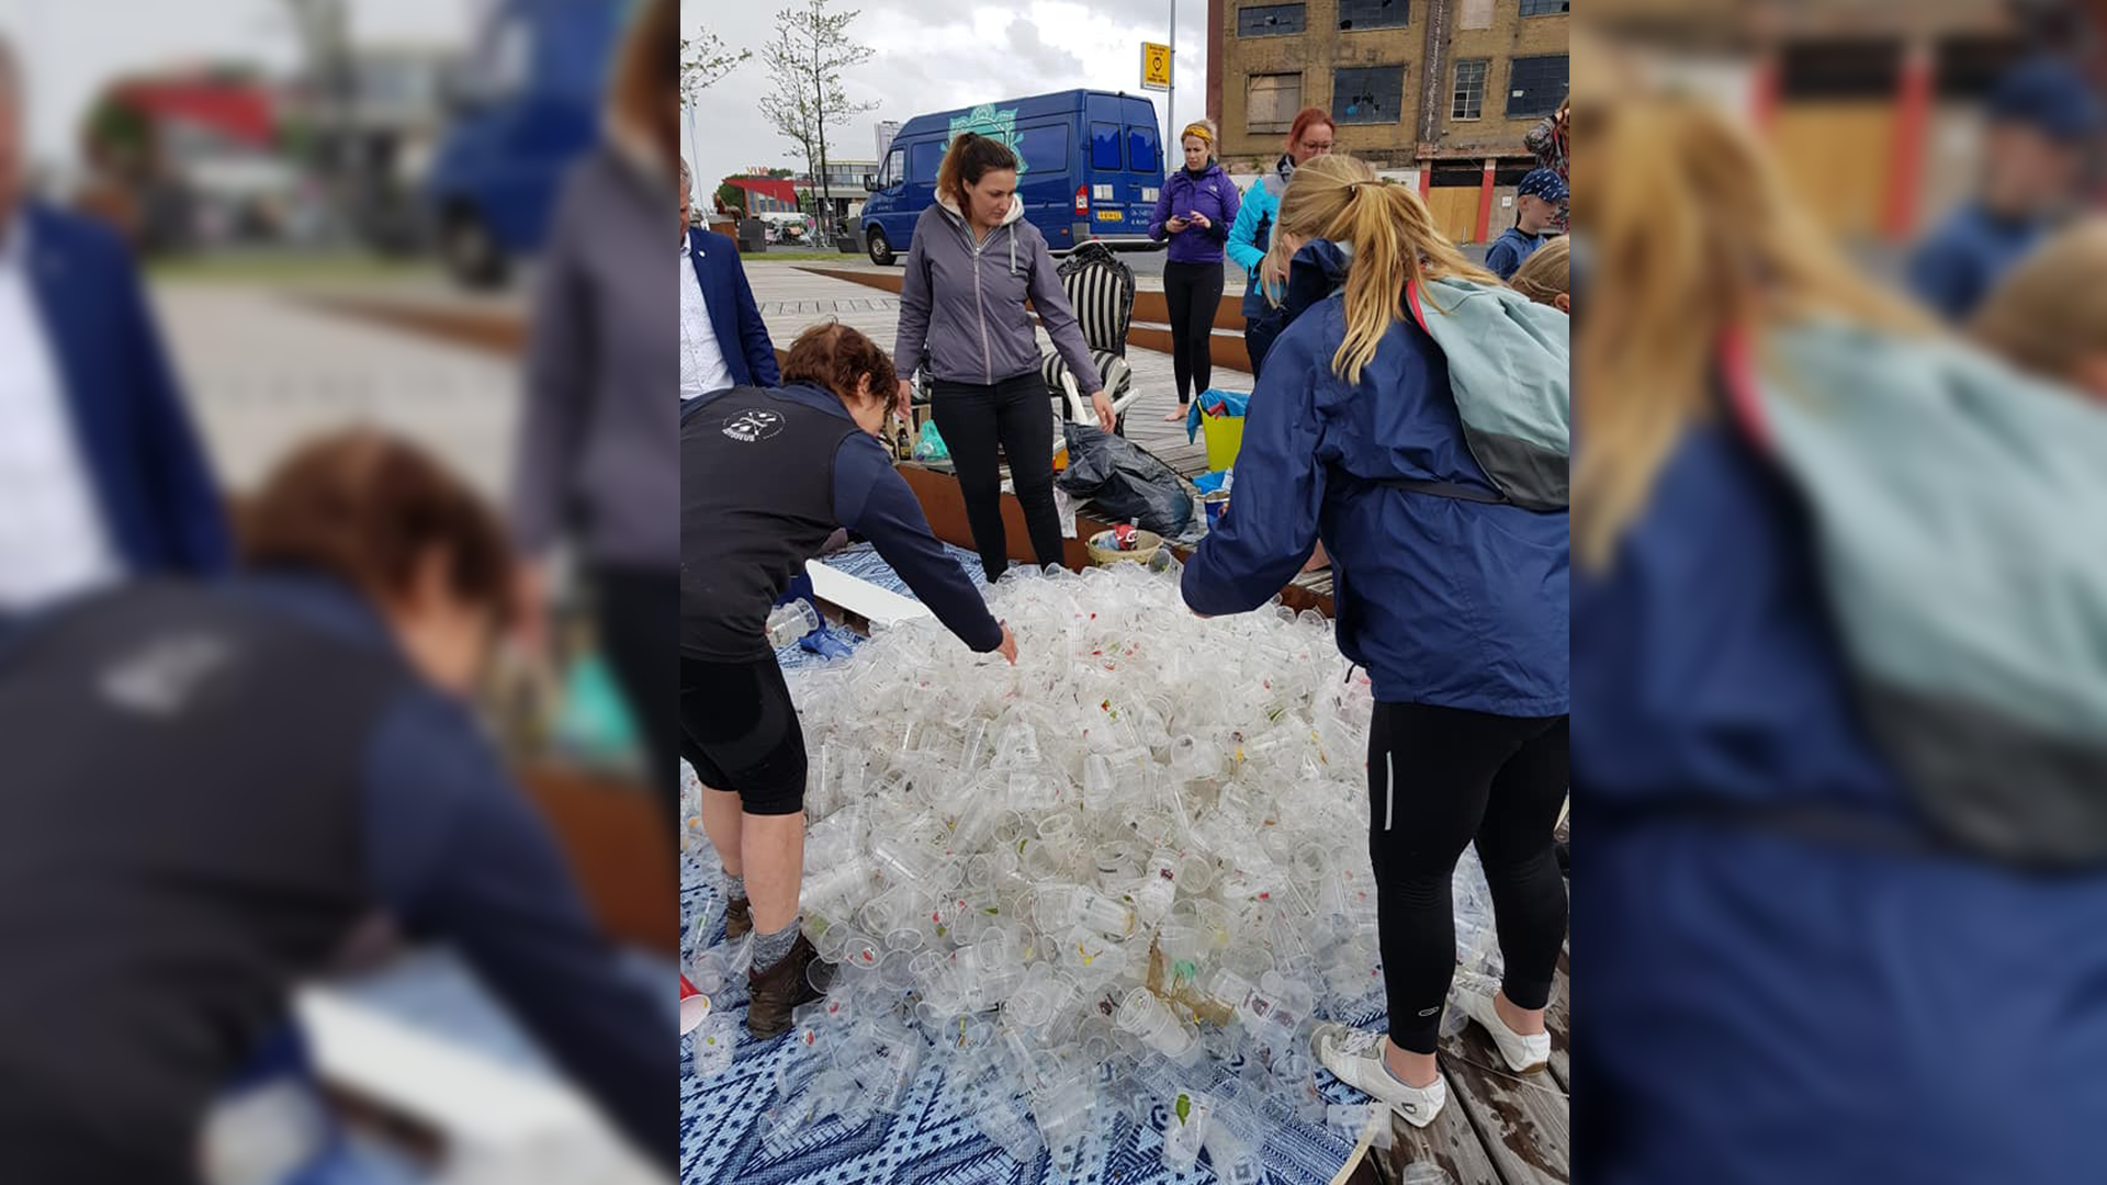
[[[1911,850],[1808,523],[1732,428],[1690,432],[1576,582],[1572,658],[1576,1181],[2099,1181],[2107,875]],[[1776,808],[1882,839],[1740,814]]]

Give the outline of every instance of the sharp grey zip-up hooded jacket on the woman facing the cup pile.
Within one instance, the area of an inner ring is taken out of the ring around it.
[[[910,377],[917,367],[946,382],[995,384],[1039,371],[1032,308],[1054,337],[1054,348],[1089,396],[1102,388],[1098,363],[1060,287],[1054,255],[1039,228],[1024,221],[1024,200],[1009,196],[1009,215],[973,242],[971,228],[948,198],[914,221],[906,278],[900,285],[900,333],[893,369]]]

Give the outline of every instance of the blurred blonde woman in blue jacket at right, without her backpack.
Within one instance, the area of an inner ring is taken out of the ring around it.
[[[1808,506],[1736,428],[1736,354],[1713,346],[1799,318],[1934,329],[1823,247],[1728,118],[1627,101],[1589,143],[1576,247],[1618,272],[1576,363],[1574,930],[1597,1035],[1572,1075],[1597,1122],[1574,1179],[2096,1181],[2107,871],[1941,843],[1867,730]]]

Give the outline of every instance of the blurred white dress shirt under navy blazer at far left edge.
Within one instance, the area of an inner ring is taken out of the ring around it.
[[[29,285],[29,226],[0,213],[0,616],[122,576]]]

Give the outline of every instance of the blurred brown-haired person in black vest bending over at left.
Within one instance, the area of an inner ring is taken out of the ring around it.
[[[206,1107],[369,919],[459,949],[649,1162],[674,1029],[466,704],[512,611],[497,519],[354,430],[255,496],[244,571],[0,643],[11,1181],[192,1181]]]

